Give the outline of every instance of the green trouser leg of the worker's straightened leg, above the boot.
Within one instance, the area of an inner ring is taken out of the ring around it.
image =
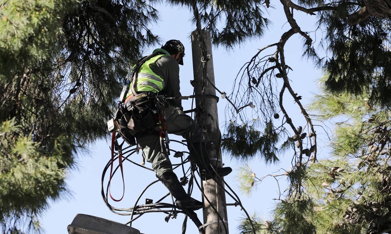
[[[137,138],[143,150],[145,159],[152,163],[152,169],[159,178],[163,174],[172,172],[172,164],[165,152],[161,152],[159,132],[151,131]],[[164,147],[164,146],[163,146]]]

